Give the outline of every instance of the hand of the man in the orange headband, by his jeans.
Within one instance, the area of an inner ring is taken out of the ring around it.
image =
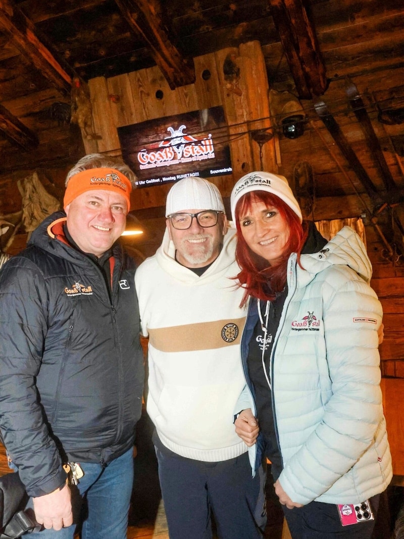
[[[33,498],[33,506],[38,524],[43,524],[47,530],[60,530],[73,524],[71,492],[67,485]]]

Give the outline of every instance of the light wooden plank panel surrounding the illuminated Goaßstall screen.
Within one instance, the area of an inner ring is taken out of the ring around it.
[[[229,82],[223,65],[231,58],[240,69],[240,77]],[[223,196],[229,196],[235,180],[260,168],[259,146],[249,133],[270,127],[268,80],[259,42],[223,49],[197,57],[195,84],[171,90],[158,67],[89,81],[93,104],[94,132],[101,140],[86,140],[87,153],[121,153],[117,127],[173,114],[182,114],[223,106],[228,124],[233,174],[212,178]],[[202,77],[208,70],[211,77]],[[161,97],[162,96],[162,97]],[[263,167],[276,170],[274,142],[262,149]],[[133,210],[164,204],[171,185],[142,188],[133,196]]]

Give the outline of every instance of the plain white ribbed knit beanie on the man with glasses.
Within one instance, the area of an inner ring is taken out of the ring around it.
[[[189,176],[180,179],[170,189],[165,216],[185,210],[217,210],[225,213],[225,206],[216,185],[199,176]]]

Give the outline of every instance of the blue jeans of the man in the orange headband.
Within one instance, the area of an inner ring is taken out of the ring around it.
[[[30,539],[73,539],[77,525],[78,529],[81,527],[81,539],[126,539],[133,486],[133,450],[110,462],[106,468],[94,462],[80,462],[80,465],[84,476],[78,486],[70,487],[74,524],[59,531],[34,532]]]

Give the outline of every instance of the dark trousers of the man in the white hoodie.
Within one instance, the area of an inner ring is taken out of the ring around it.
[[[252,478],[248,454],[221,462],[186,459],[157,448],[170,539],[260,539],[266,523],[264,471]]]

